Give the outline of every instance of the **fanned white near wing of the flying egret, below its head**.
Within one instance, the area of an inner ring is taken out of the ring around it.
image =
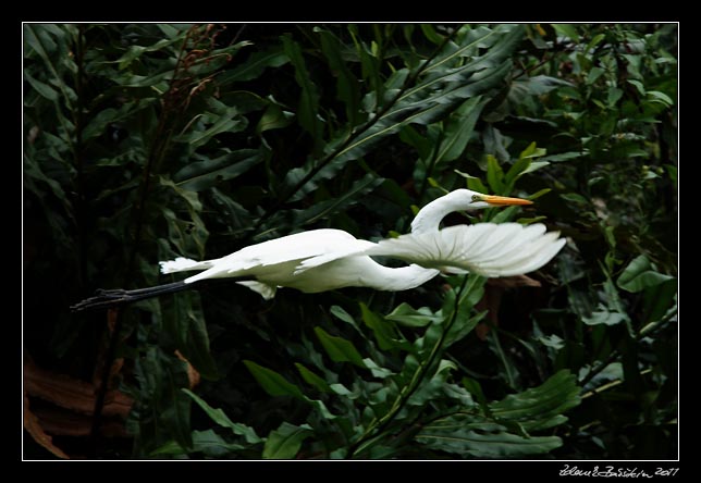
[[[447,272],[468,271],[497,277],[540,269],[565,245],[545,225],[479,223],[384,239],[364,255],[385,256]],[[312,259],[313,260],[313,259]]]

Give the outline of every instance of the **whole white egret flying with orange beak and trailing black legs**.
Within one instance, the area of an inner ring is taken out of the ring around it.
[[[562,248],[557,233],[543,225],[516,223],[439,230],[451,212],[488,207],[531,205],[529,200],[483,195],[457,189],[423,207],[411,223],[411,233],[378,244],[357,239],[332,228],[296,233],[245,247],[229,256],[195,261],[186,258],[160,262],[161,273],[199,271],[183,281],[134,290],[98,290],[72,310],[133,302],[144,298],[192,288],[211,278],[239,278],[236,283],[272,298],[278,287],[318,293],[343,287],[406,290],[436,276],[441,271],[476,272],[506,276],[538,270]],[[408,261],[408,267],[389,268],[371,256]],[[244,280],[241,280],[244,278]]]

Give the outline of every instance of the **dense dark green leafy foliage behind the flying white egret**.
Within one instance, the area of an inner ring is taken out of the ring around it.
[[[23,29],[24,347],[91,380],[116,340],[134,406],[111,454],[675,457],[676,25]],[[124,309],[116,335],[67,310],[176,280],[159,260],[406,233],[459,187],[536,203],[448,223],[568,238],[541,287],[220,284]]]

